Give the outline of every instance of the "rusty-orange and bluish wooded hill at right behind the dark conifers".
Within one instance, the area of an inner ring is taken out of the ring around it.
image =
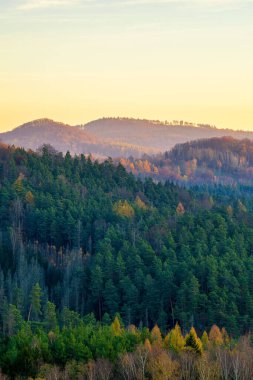
[[[252,186],[253,142],[232,137],[196,140],[141,160],[120,162],[134,174],[187,184]]]

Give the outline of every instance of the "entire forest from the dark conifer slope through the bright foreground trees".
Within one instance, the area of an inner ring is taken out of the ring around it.
[[[0,228],[3,378],[252,379],[249,191],[1,146]]]

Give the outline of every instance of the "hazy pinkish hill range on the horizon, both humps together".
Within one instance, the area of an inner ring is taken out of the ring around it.
[[[84,125],[70,126],[50,119],[39,119],[0,134],[6,144],[36,150],[51,144],[56,150],[95,157],[140,158],[158,154],[176,144],[196,139],[231,136],[253,139],[253,132],[218,129],[187,122],[161,122],[129,118],[103,118]]]

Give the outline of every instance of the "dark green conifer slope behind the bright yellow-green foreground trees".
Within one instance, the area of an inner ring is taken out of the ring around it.
[[[126,325],[252,329],[251,199],[141,182],[46,147],[0,148],[0,180],[2,331],[13,307],[39,323],[47,300]]]

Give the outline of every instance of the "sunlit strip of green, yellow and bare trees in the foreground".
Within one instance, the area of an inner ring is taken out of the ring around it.
[[[39,311],[40,302],[35,305]],[[117,316],[112,323],[100,323],[92,315],[81,318],[67,308],[57,318],[51,302],[40,323],[22,321],[17,310],[15,317],[15,330],[1,342],[2,380],[251,380],[253,376],[250,336],[235,341],[216,325],[201,338],[193,327],[183,335],[178,324],[162,334],[157,325],[152,330],[124,328]]]

